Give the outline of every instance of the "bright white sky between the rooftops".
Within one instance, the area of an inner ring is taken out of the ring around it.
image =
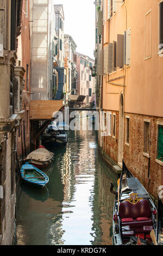
[[[54,0],[63,4],[64,33],[71,35],[77,45],[77,52],[91,58],[95,50],[95,0]]]

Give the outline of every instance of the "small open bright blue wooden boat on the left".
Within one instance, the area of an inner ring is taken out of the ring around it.
[[[22,181],[33,187],[42,188],[49,181],[48,176],[42,170],[27,162],[22,165],[20,172]]]

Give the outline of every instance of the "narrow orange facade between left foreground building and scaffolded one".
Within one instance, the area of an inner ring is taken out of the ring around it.
[[[20,161],[30,151],[30,1],[23,0],[21,34],[17,38],[16,71],[18,79],[22,80],[22,112],[23,118],[17,129],[17,153]],[[20,72],[21,71],[21,72]],[[24,76],[22,76],[22,71]]]

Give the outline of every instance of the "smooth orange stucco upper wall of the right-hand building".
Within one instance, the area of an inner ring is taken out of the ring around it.
[[[107,5],[105,0],[105,4]],[[125,95],[125,112],[162,117],[163,57],[158,55],[159,0],[126,0],[117,2],[117,11],[104,22],[104,47],[116,41],[117,34],[131,29],[131,64],[104,76],[103,109],[119,110],[120,94]],[[151,58],[145,60],[145,15],[151,10]],[[107,42],[108,41],[108,42]],[[125,83],[126,87],[114,86],[106,81],[125,75],[126,78],[112,81]]]

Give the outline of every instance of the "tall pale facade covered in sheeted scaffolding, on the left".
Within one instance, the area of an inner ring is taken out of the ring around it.
[[[54,0],[30,0],[31,100],[51,100],[53,84]]]

